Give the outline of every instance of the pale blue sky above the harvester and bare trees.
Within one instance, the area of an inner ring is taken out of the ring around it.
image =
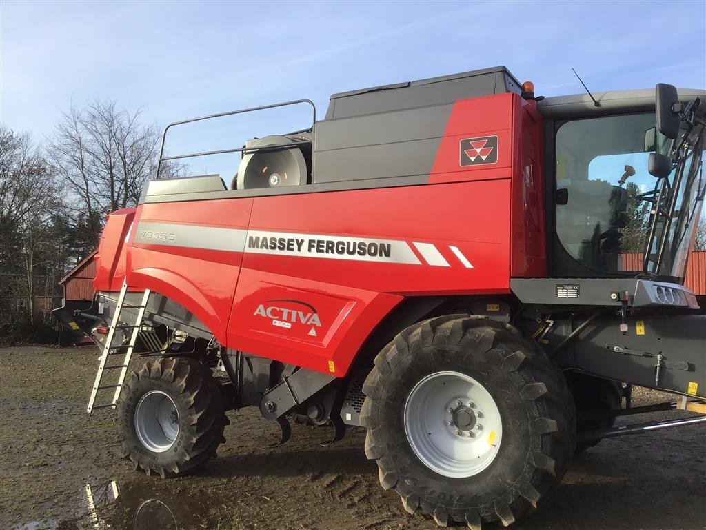
[[[95,98],[160,127],[299,98],[323,118],[331,93],[501,64],[538,95],[582,92],[572,66],[594,91],[706,88],[705,0],[3,0],[0,18],[0,124],[35,141]],[[286,119],[303,128],[311,115]],[[251,136],[297,129],[239,120]],[[233,147],[219,141],[206,147]]]

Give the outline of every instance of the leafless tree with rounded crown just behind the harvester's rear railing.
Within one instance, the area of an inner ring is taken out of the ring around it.
[[[131,113],[115,101],[96,100],[64,114],[49,141],[49,155],[75,206],[97,223],[104,214],[137,203],[154,171],[158,139],[157,127],[142,124],[139,110]],[[97,241],[100,226],[92,230]]]

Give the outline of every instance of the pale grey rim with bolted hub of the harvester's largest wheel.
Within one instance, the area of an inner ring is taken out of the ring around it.
[[[503,424],[493,396],[460,372],[427,375],[405,402],[405,433],[414,454],[443,476],[466,478],[498,454]]]

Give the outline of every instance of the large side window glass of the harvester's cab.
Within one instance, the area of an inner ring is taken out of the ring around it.
[[[580,119],[556,133],[556,234],[577,261],[599,271],[638,271],[654,189],[646,139],[654,113]],[[566,204],[558,203],[566,202]]]

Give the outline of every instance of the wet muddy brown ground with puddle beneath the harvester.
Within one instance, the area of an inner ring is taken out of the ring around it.
[[[95,348],[0,348],[0,529],[436,528],[382,490],[361,430],[320,447],[327,428],[295,425],[289,443],[268,449],[273,426],[255,411],[231,412],[227,444],[197,476],[136,473],[119,459],[112,411],[85,414],[96,368]],[[636,401],[655,400],[664,395]],[[604,440],[515,528],[703,529],[705,485],[702,425]]]

